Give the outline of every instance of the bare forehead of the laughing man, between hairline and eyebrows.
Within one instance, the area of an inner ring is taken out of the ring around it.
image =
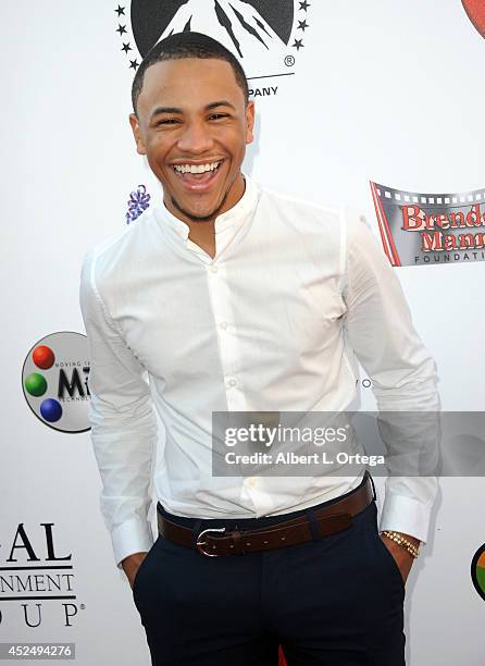
[[[140,109],[149,110],[159,103],[177,108],[204,106],[214,99],[227,99],[235,106],[244,103],[233,67],[225,60],[184,58],[150,65],[138,103]]]

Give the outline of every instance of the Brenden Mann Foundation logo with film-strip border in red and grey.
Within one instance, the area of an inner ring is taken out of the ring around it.
[[[430,195],[371,182],[371,190],[393,266],[485,261],[485,189]]]

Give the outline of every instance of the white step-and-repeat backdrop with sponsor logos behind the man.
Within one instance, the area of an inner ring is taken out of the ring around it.
[[[233,50],[257,104],[246,172],[364,211],[436,359],[444,410],[480,411],[485,3],[18,0],[0,15],[0,642],[69,643],[60,658],[80,666],[149,664],[99,511],[78,306],[87,249],[161,201],[128,125],[136,69],[187,25]],[[359,382],[373,409],[372,380]],[[439,485],[407,584],[408,663],[477,666],[484,481]]]

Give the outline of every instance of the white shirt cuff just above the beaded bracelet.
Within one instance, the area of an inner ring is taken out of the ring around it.
[[[381,514],[380,531],[402,532],[426,543],[431,510],[431,504],[423,504],[406,495],[386,492]]]

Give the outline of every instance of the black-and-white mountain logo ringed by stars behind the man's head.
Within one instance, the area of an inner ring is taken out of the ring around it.
[[[132,0],[114,10],[115,29],[134,71],[169,35],[188,30],[209,35],[239,59],[251,97],[259,97],[276,95],[282,77],[295,73],[312,28],[310,8],[306,0]]]

